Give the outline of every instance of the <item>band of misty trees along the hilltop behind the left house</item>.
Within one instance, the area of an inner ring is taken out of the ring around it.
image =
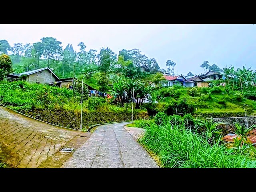
[[[43,37],[40,42],[33,44],[14,43],[13,47],[7,40],[0,40],[0,54],[10,56],[15,73],[49,67],[60,78],[67,78],[72,76],[74,65],[76,75],[91,71],[93,68],[107,74],[115,68],[122,68],[124,71],[128,68],[135,70],[136,67],[145,64],[152,71],[160,70],[155,58],[148,58],[136,48],[120,50],[117,55],[108,47],[99,51],[88,50],[84,42],[80,42],[78,47],[78,52],[74,50],[72,44],[63,48],[62,42],[52,37]],[[129,71],[131,70],[127,70],[128,76]]]

